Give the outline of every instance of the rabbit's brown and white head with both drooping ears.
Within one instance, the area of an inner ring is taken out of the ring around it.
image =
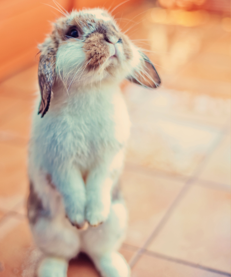
[[[150,88],[161,83],[148,57],[105,10],[72,11],[59,18],[39,49],[42,117],[49,109],[55,81],[62,81],[66,90],[124,78]]]

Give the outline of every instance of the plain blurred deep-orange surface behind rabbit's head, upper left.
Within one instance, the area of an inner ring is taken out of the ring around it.
[[[42,2],[42,3],[41,3]],[[139,1],[130,0],[138,3]],[[120,0],[59,0],[64,9],[104,6],[115,7]],[[50,6],[49,6],[50,5]],[[128,5],[124,3],[125,7]],[[54,8],[52,8],[52,7]],[[2,0],[0,1],[0,81],[33,65],[38,57],[37,45],[50,33],[51,23],[60,16],[52,0]]]

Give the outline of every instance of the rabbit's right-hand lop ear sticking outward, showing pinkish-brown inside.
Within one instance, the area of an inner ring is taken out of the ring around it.
[[[139,63],[134,67],[133,72],[127,79],[146,88],[157,88],[161,84],[161,79],[149,58],[138,51]]]

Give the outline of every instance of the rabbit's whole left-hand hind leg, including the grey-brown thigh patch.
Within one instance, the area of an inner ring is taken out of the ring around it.
[[[52,200],[50,201],[52,203]],[[62,203],[56,203],[62,206]],[[33,186],[27,203],[31,232],[44,258],[36,267],[38,277],[66,277],[68,261],[79,253],[79,235],[65,213],[44,208]]]

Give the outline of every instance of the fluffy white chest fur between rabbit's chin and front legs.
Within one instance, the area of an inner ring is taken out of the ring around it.
[[[33,118],[31,151],[37,162],[69,159],[87,169],[124,146],[130,121],[118,87],[99,93],[70,91],[65,98],[58,93],[44,118]]]

